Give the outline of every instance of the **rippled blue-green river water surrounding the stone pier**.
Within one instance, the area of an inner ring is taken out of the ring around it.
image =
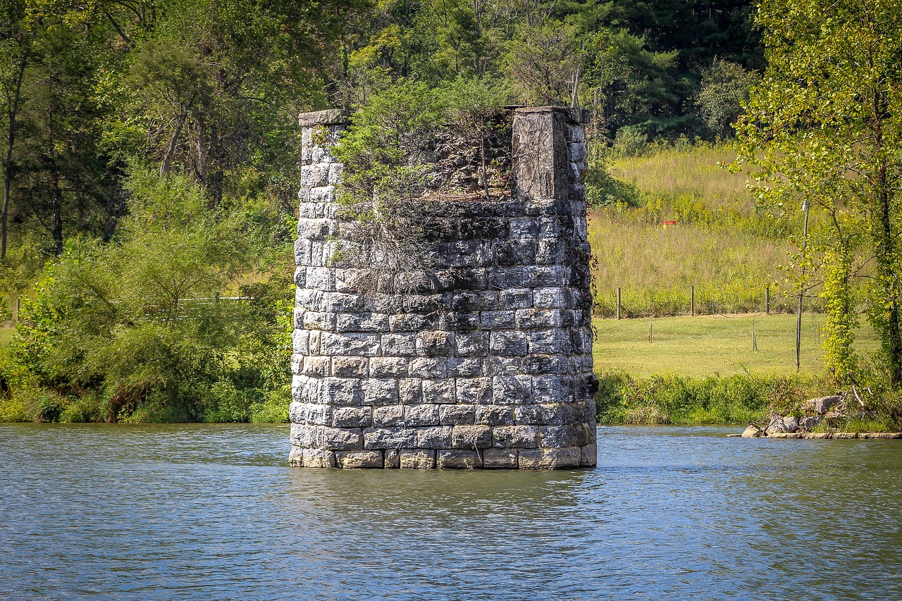
[[[902,440],[731,431],[416,472],[288,467],[280,426],[0,425],[0,599],[902,598]]]

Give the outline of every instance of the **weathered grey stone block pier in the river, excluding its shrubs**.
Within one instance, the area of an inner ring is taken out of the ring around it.
[[[511,198],[437,201],[428,283],[388,295],[329,266],[347,116],[301,116],[292,465],[594,467],[582,112],[512,118]]]

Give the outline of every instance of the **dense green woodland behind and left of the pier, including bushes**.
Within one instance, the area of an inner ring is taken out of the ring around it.
[[[300,112],[471,86],[588,108],[596,159],[730,138],[777,64],[769,28],[793,26],[768,15],[824,9],[775,0],[756,23],[748,0],[0,3],[0,290],[23,296],[0,356],[0,393],[19,401],[0,421],[281,419]]]

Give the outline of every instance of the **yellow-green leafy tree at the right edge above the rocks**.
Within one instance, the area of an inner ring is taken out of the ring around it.
[[[815,221],[796,236],[796,290],[823,280],[835,380],[854,382],[859,311],[882,339],[876,368],[902,385],[902,21],[895,2],[765,0],[768,68],[739,127],[741,162],[778,219],[802,201]],[[857,282],[859,285],[853,285]],[[865,365],[866,371],[874,366]]]

